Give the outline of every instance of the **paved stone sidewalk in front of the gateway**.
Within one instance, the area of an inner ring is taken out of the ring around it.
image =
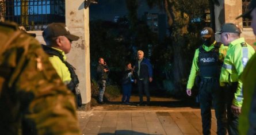
[[[93,134],[202,134],[200,109],[78,111],[83,135]],[[216,134],[216,118],[212,111],[211,133]]]

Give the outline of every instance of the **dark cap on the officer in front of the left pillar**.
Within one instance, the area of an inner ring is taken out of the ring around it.
[[[71,41],[77,41],[79,39],[78,36],[70,34],[70,31],[64,23],[52,23],[44,29],[43,37],[45,39],[58,36],[65,36]]]

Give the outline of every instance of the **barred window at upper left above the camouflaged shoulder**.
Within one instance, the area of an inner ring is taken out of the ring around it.
[[[14,21],[26,30],[43,30],[65,22],[65,0],[0,0],[0,21]]]

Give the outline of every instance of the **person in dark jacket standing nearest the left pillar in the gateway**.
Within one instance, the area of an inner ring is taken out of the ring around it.
[[[106,65],[106,62],[102,57],[98,59],[98,67],[97,67],[97,80],[98,84],[100,86],[100,91],[99,91],[99,97],[98,97],[98,102],[100,104],[103,104],[103,95],[105,92],[106,88],[106,79],[108,79],[108,73],[109,73],[109,68]]]

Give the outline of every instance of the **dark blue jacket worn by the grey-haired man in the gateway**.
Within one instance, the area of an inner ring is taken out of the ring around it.
[[[137,71],[139,70],[138,61],[135,63],[135,78],[136,79],[144,79],[144,78],[152,78],[153,77],[153,69],[150,64],[150,60],[143,57],[142,62],[140,63],[140,75],[137,75]]]

